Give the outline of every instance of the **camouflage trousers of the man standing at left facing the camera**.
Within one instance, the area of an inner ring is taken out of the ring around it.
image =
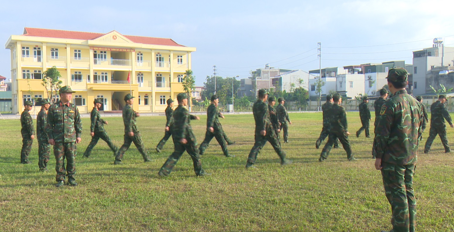
[[[63,180],[65,175],[68,179],[75,179],[74,175],[76,174],[76,163],[75,158],[77,155],[77,146],[76,142],[72,143],[55,143],[54,145],[54,155],[55,155],[55,171],[57,172],[57,177],[55,180],[57,182]],[[66,169],[64,168],[64,159],[66,158]]]

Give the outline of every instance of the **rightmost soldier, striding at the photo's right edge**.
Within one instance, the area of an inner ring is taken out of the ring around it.
[[[451,120],[451,116],[449,115],[448,109],[446,109],[446,106],[444,105],[446,101],[446,96],[441,94],[438,97],[438,101],[434,102],[430,106],[430,131],[429,138],[427,138],[424,147],[424,153],[429,153],[430,146],[432,145],[432,142],[434,142],[437,134],[440,136],[441,143],[443,143],[444,152],[451,152],[448,144],[448,138],[446,137],[446,125],[444,124],[444,119],[446,118],[446,121],[448,121],[449,126],[451,126],[452,128],[454,128],[454,125]]]

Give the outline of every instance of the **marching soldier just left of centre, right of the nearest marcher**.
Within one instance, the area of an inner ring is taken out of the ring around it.
[[[208,144],[214,138],[216,138],[219,145],[221,145],[222,152],[225,157],[235,157],[234,155],[229,154],[227,149],[227,142],[224,139],[224,131],[222,130],[221,123],[219,122],[219,109],[217,104],[219,103],[219,98],[216,94],[211,96],[211,104],[207,108],[207,132],[205,133],[205,139],[199,148],[199,154],[203,155],[205,149],[207,149]]]

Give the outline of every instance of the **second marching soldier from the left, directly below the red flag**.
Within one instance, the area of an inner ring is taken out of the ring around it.
[[[138,117],[139,114],[134,112],[132,107],[134,98],[135,97],[131,94],[126,94],[126,96],[124,96],[124,101],[126,103],[123,108],[124,143],[115,156],[114,164],[121,164],[123,155],[128,150],[129,146],[131,146],[131,143],[136,145],[138,151],[142,154],[144,162],[151,161],[151,159],[148,158],[145,147],[143,146],[142,136],[137,129],[136,117]]]

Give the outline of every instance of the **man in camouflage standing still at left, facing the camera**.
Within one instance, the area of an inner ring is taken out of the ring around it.
[[[61,87],[59,102],[52,104],[47,112],[46,132],[49,144],[54,145],[55,171],[57,172],[56,187],[64,185],[65,174],[68,177],[69,185],[77,185],[74,178],[76,173],[76,143],[80,143],[82,140],[82,122],[79,109],[71,103],[73,93],[75,92],[71,87]],[[64,167],[65,158],[66,169]]]

